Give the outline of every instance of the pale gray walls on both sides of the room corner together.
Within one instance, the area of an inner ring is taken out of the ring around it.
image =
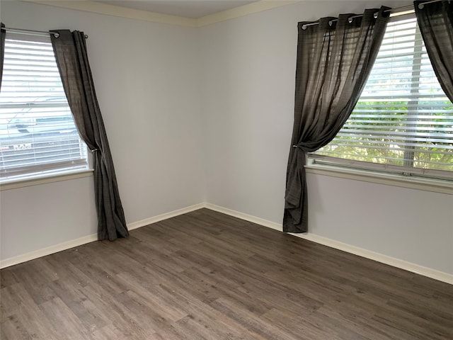
[[[411,2],[302,1],[183,28],[2,1],[1,20],[90,36],[127,222],[207,201],[280,223],[297,22],[381,4]],[[308,184],[311,234],[453,274],[452,196],[315,174]],[[96,232],[91,186],[3,191],[1,259]],[[39,242],[26,239],[38,229]]]

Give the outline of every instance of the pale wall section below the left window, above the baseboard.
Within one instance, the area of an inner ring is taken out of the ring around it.
[[[93,177],[0,192],[0,259],[96,234]]]

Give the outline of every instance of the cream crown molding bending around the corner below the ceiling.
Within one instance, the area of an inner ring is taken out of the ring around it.
[[[261,11],[268,11],[273,8],[295,4],[297,2],[300,2],[301,0],[260,0],[257,2],[253,2],[252,4],[231,8],[226,11],[210,14],[209,16],[203,16],[201,18],[185,18],[183,16],[170,16],[167,14],[140,11],[138,9],[108,5],[89,0],[84,1],[24,0],[24,1],[33,4],[69,8],[75,9],[77,11],[105,14],[108,16],[117,16],[120,18],[129,18],[134,20],[150,21],[154,23],[167,23],[169,25],[197,28],[211,25],[213,23],[219,23],[221,21],[239,18],[241,16],[248,16],[249,14],[258,13]]]

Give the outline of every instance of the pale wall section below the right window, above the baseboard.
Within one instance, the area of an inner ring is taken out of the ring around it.
[[[309,232],[453,273],[453,195],[309,174]]]

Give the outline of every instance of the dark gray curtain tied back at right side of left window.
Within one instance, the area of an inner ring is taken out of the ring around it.
[[[108,146],[101,110],[94,91],[83,32],[52,30],[52,45],[64,92],[79,133],[93,152],[98,239],[127,237],[124,211],[117,188],[113,159]]]

